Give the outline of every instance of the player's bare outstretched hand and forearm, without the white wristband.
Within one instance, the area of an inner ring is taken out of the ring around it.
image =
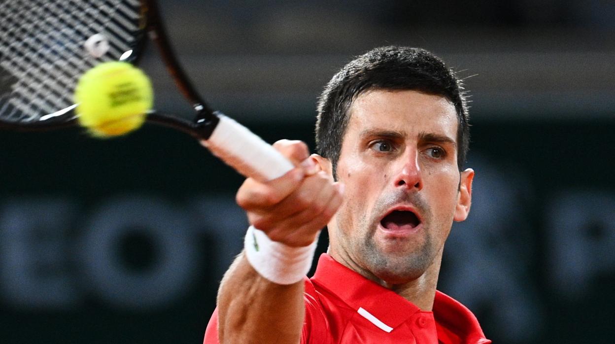
[[[237,203],[272,241],[309,246],[341,204],[340,185],[320,171],[303,142],[284,140],[274,147],[297,167],[270,182],[248,178]],[[218,338],[220,343],[299,343],[304,308],[303,280],[269,281],[242,252],[220,284]]]

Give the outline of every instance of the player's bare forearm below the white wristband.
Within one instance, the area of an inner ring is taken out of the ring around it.
[[[264,279],[240,254],[218,292],[220,343],[299,343],[305,306],[303,281]]]

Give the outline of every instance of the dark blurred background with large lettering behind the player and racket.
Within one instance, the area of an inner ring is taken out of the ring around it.
[[[477,174],[438,289],[496,343],[612,343],[615,2],[161,6],[197,88],[269,142],[314,148],[320,90],[355,55],[400,44],[442,57],[471,94]],[[191,111],[156,56],[143,66],[157,108]],[[242,178],[151,125],[113,140],[0,135],[0,342],[202,342],[242,246]]]

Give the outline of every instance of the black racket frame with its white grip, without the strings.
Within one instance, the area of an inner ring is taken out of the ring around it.
[[[184,97],[191,102],[196,111],[194,119],[189,121],[158,111],[148,111],[146,121],[173,127],[197,138],[215,156],[246,177],[266,181],[278,178],[289,170],[293,164],[279,151],[253,134],[246,127],[223,114],[213,111],[200,97],[189,81],[188,75],[181,68],[173,49],[167,39],[160,10],[155,0],[140,0],[141,15],[138,35],[130,48],[132,52],[122,60],[137,64],[145,50],[146,41],[151,39],[164,64]],[[77,116],[74,112],[76,104],[64,110],[42,116],[39,121],[7,123],[0,121],[0,127],[17,130],[49,130],[74,126]],[[218,130],[216,130],[218,129]]]

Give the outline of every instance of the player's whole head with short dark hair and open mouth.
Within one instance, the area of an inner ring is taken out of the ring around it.
[[[346,185],[328,225],[334,258],[387,284],[439,270],[474,177],[461,171],[469,129],[459,79],[426,50],[374,49],[331,79],[318,116],[317,159]]]

